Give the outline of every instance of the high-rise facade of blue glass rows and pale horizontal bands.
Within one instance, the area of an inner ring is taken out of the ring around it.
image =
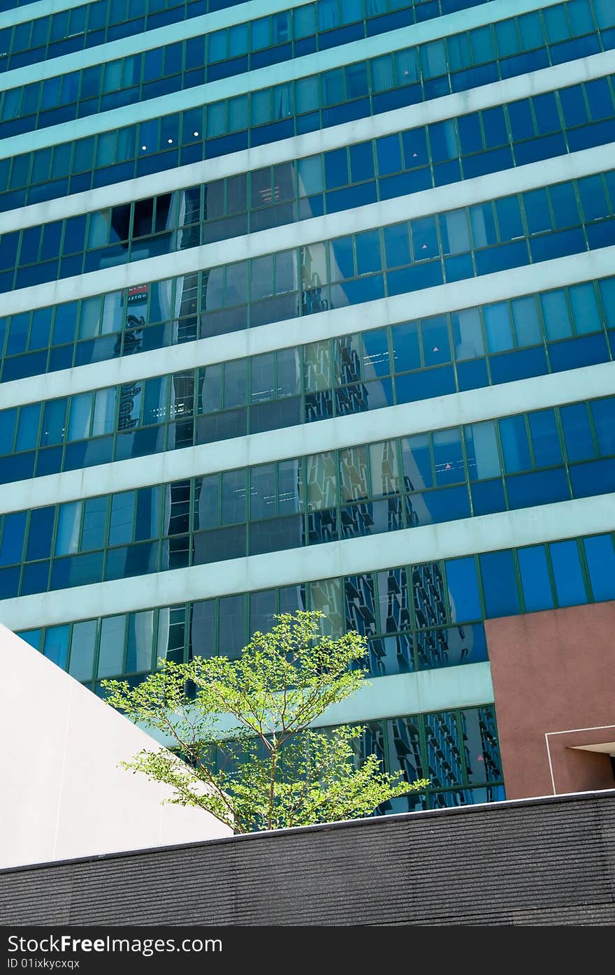
[[[0,621],[321,609],[389,811],[503,799],[485,620],[615,599],[615,2],[0,11]]]

